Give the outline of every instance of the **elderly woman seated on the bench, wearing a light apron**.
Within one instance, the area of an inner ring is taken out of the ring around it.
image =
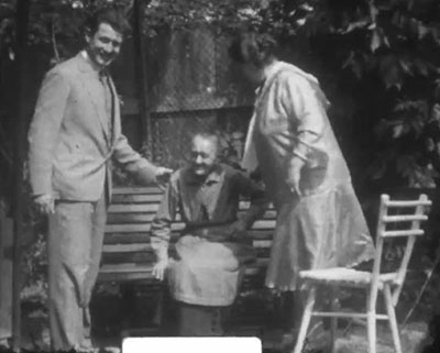
[[[157,256],[153,274],[168,280],[178,304],[179,335],[221,335],[224,309],[235,299],[242,271],[254,251],[245,231],[264,212],[264,191],[241,172],[217,162],[219,137],[197,133],[190,163],[170,178],[152,222],[152,246]],[[240,197],[251,199],[238,218]],[[168,256],[170,223],[177,209],[186,223]]]

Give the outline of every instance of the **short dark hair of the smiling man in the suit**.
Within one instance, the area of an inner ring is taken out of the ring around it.
[[[130,24],[125,14],[118,9],[106,8],[97,10],[86,20],[84,26],[92,35],[98,31],[101,23],[111,25],[114,31],[121,34],[127,34],[130,31]]]

